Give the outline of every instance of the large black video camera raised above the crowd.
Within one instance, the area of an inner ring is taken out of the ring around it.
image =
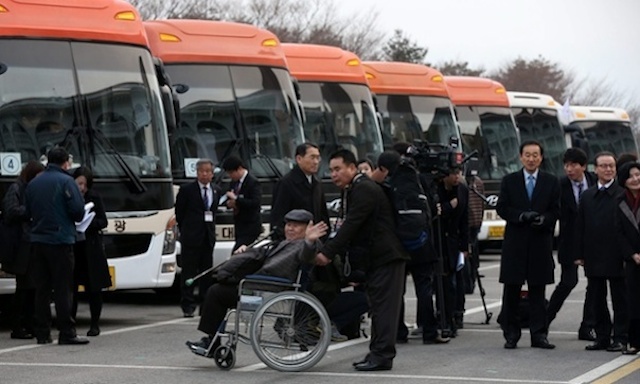
[[[452,169],[461,169],[464,158],[464,153],[458,150],[455,138],[452,138],[451,145],[448,146],[415,140],[407,149],[406,155],[413,159],[420,173],[438,177],[449,175]]]

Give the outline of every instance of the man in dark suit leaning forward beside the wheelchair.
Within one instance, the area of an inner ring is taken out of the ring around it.
[[[360,250],[361,268],[367,273],[371,342],[369,354],[354,367],[358,371],[390,370],[396,355],[405,264],[410,257],[395,235],[391,202],[380,185],[358,173],[353,152],[334,152],[329,166],[331,180],[344,191],[344,217],[335,236],[316,256],[316,264],[327,265],[336,255]]]

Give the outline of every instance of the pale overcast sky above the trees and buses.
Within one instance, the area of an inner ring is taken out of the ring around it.
[[[579,79],[607,80],[640,104],[638,0],[343,0],[341,14],[378,11],[429,52],[426,61],[496,69],[521,56],[559,63]],[[562,100],[558,100],[563,102]]]

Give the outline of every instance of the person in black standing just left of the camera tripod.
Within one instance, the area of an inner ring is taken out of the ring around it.
[[[451,167],[447,173],[435,181],[439,226],[436,225],[434,238],[436,249],[442,250],[444,314],[440,315],[445,316],[446,326],[442,336],[455,337],[456,324],[462,323],[464,314],[464,275],[460,268],[460,254],[464,260],[469,255],[469,189],[460,183],[460,167]]]

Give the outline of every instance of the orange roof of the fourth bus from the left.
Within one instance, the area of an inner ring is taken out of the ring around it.
[[[372,92],[449,97],[442,73],[426,65],[389,61],[365,61],[362,65]]]

